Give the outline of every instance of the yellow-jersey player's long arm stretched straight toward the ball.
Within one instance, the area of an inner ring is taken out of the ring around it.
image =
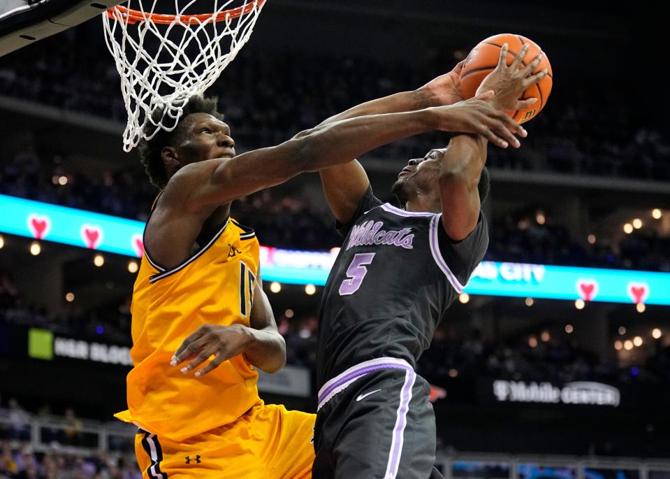
[[[514,140],[511,131],[520,133],[523,129],[507,115],[493,110],[486,98],[484,95],[453,106],[340,120],[315,127],[304,136],[275,147],[230,159],[188,164],[170,179],[164,196],[169,198],[172,192],[178,192],[175,194],[180,199],[179,208],[205,215],[212,208],[284,183],[299,173],[342,164],[391,141],[434,129],[490,134],[507,145],[507,141]],[[463,111],[468,108],[472,115],[464,117]]]

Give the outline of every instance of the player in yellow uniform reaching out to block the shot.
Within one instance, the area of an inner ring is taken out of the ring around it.
[[[231,201],[434,129],[516,145],[523,129],[491,96],[332,122],[242,155],[215,99],[194,97],[174,131],[140,144],[161,193],[133,290],[128,410],[117,417],[140,428],[144,478],[311,477],[314,415],[258,398],[256,369],[281,369],[286,351],[261,288],[258,240],[231,218]]]

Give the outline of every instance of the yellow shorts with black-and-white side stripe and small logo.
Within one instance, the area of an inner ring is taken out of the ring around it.
[[[144,479],[309,479],[315,418],[261,401],[232,424],[178,443],[140,431],[135,452]]]

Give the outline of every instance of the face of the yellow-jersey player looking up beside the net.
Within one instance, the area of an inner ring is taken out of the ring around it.
[[[184,118],[184,123],[180,126],[185,129],[179,145],[182,166],[205,159],[235,156],[231,128],[212,115],[192,113]]]

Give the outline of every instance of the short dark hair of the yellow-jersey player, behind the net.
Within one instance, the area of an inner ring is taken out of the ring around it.
[[[165,171],[161,151],[166,146],[176,146],[182,141],[183,136],[186,134],[186,131],[182,128],[184,118],[193,113],[207,113],[207,115],[212,115],[217,120],[224,120],[224,115],[217,111],[217,101],[219,99],[216,96],[191,96],[186,105],[184,105],[182,116],[173,131],[159,129],[156,136],[151,140],[147,141],[145,138],[140,140],[138,143],[140,162],[144,165],[152,185],[163,189],[168,184],[170,178],[168,178],[168,173]],[[164,108],[156,108],[154,110],[151,115],[152,122],[147,122],[145,126],[145,134],[148,135],[153,132],[153,124],[161,121],[163,113]]]

